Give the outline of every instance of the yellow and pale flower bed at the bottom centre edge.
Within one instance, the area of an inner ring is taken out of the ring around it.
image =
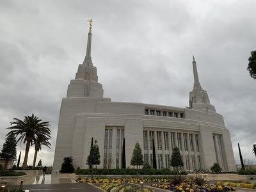
[[[125,192],[125,191],[140,191],[140,186],[134,186],[132,184],[103,184],[102,186],[100,186],[100,188],[106,190],[107,192]],[[147,188],[143,188],[143,192],[150,192],[151,190],[147,189]]]

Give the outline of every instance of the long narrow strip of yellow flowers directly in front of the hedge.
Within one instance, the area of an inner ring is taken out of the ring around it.
[[[135,177],[122,177],[122,178],[80,178],[77,182],[89,183],[125,183],[125,182],[170,182],[166,177],[149,177],[149,178],[135,178]]]

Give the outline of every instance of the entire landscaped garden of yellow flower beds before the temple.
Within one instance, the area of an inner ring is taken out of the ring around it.
[[[77,182],[88,182],[92,184],[98,184],[106,191],[136,191],[140,189],[140,183],[143,182],[143,191],[150,191],[150,189],[159,188],[170,191],[235,191],[234,188],[246,188],[255,189],[256,184],[242,181],[218,181],[215,184],[207,183],[201,175],[196,175],[192,179],[184,179],[182,175],[173,175],[171,177],[122,177],[122,178],[106,178],[97,177],[79,178]],[[137,185],[134,185],[137,184]],[[145,188],[150,186],[152,188]],[[121,190],[122,189],[122,190]],[[132,189],[132,190],[131,190]]]

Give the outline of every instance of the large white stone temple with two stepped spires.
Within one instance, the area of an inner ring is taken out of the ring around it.
[[[88,33],[86,56],[70,81],[62,99],[52,173],[58,173],[63,158],[72,156],[77,168],[88,168],[86,159],[92,137],[100,150],[100,165],[122,166],[125,138],[126,167],[138,141],[144,161],[152,164],[152,141],[156,147],[157,168],[170,168],[173,147],[180,149],[184,170],[210,169],[214,163],[234,171],[236,164],[223,116],[216,112],[203,90],[193,57],[194,86],[189,108],[134,102],[112,102],[104,97],[97,68],[91,58],[92,27]],[[214,81],[214,79],[212,79]]]

